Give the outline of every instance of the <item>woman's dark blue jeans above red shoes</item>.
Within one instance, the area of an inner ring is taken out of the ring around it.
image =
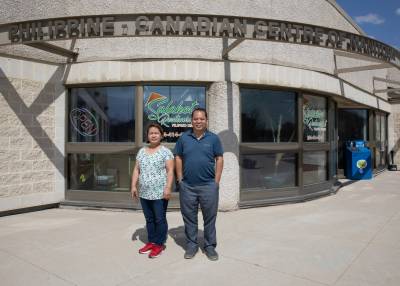
[[[167,206],[168,201],[146,200],[140,198],[143,214],[146,219],[148,241],[162,245],[167,240]]]

